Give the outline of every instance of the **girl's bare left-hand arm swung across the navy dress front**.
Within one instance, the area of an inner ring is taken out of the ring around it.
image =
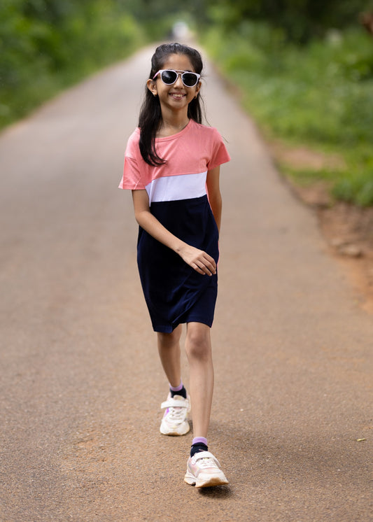
[[[134,202],[134,216],[143,230],[146,230],[150,236],[153,236],[157,241],[160,241],[160,243],[168,246],[180,255],[199,274],[208,276],[216,274],[216,262],[211,258],[211,255],[178,239],[150,213],[148,192],[146,190],[132,190],[132,199]]]

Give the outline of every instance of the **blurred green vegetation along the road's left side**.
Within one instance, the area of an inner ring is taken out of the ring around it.
[[[113,0],[2,0],[0,128],[145,41]]]

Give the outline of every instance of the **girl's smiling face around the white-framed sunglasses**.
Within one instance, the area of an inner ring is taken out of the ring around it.
[[[172,69],[178,72],[195,72],[187,55],[169,55],[162,69]],[[155,80],[148,80],[147,85],[150,92],[160,98],[161,107],[169,108],[171,111],[179,111],[181,109],[188,111],[190,101],[197,97],[199,89],[201,88],[200,81],[194,87],[185,87],[180,75],[172,85],[163,83],[160,75],[158,75]]]

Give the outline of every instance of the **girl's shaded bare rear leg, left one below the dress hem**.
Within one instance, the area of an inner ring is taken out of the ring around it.
[[[171,386],[178,386],[181,381],[180,367],[180,337],[181,325],[178,325],[171,334],[157,332],[158,352],[164,373]]]

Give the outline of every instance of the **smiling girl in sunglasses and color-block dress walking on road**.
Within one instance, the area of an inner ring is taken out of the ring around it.
[[[179,344],[181,325],[187,325],[194,438],[185,481],[197,488],[227,484],[206,437],[213,395],[210,328],[218,287],[219,171],[230,157],[218,131],[202,125],[201,73],[197,50],[178,43],[155,50],[119,185],[132,190],[141,285],[169,381],[162,403],[164,435],[190,430]]]

